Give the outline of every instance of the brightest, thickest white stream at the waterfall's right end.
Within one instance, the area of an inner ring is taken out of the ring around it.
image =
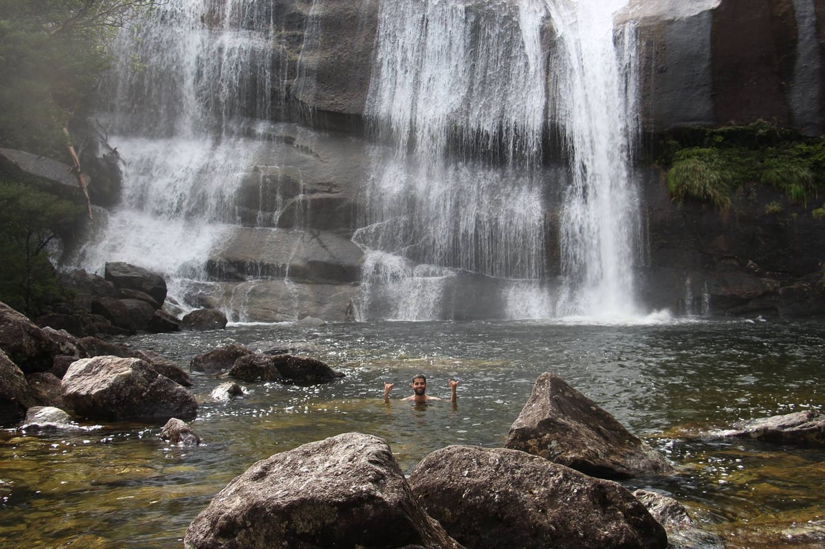
[[[549,2],[561,47],[555,116],[563,128],[571,181],[561,219],[562,314],[634,313],[633,259],[641,246],[632,174],[634,43],[616,33],[626,0]]]

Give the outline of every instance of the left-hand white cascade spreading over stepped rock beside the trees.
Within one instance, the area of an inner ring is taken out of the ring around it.
[[[70,262],[141,265],[165,275],[177,297],[186,280],[205,279],[210,251],[237,223],[239,174],[266,146],[244,134],[276,114],[279,66],[266,2],[157,9],[120,33],[120,62],[101,93],[109,108],[97,117],[123,151],[120,204],[98,213],[102,227]]]

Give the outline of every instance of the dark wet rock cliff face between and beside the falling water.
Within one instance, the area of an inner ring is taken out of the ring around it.
[[[243,302],[250,320],[351,318],[365,259],[350,239],[361,226],[365,167],[375,147],[366,113],[382,2],[252,5],[266,12],[258,18],[275,21],[271,64],[279,77],[270,118],[285,124],[263,137],[281,156],[277,166],[248,167],[233,207],[241,228],[210,256],[208,280],[185,297],[229,308]],[[205,21],[219,26],[220,18],[216,10]],[[637,23],[643,134],[755,120],[822,133],[825,0],[632,0],[619,18]],[[554,40],[545,25],[545,52]],[[554,132],[545,134],[544,160],[552,162],[561,153]],[[793,204],[766,214],[765,204],[779,198],[756,187],[724,215],[701,204],[676,207],[663,181],[651,170],[643,183],[649,252],[638,280],[646,305],[686,313],[825,313],[822,220]],[[558,207],[559,200],[548,202],[556,204],[548,209]],[[546,271],[556,273],[557,229],[547,232]]]

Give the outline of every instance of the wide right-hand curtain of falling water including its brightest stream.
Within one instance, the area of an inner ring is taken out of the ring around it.
[[[625,4],[382,3],[366,114],[394,150],[375,152],[355,239],[369,251],[362,317],[449,318],[468,284],[509,317],[634,314],[634,36],[613,24]],[[568,170],[545,165],[554,128]],[[545,212],[562,190],[549,266]]]

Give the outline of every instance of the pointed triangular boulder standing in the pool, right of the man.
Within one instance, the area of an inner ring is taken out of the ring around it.
[[[536,380],[530,399],[507,434],[505,447],[601,478],[672,472],[662,454],[551,373]]]

